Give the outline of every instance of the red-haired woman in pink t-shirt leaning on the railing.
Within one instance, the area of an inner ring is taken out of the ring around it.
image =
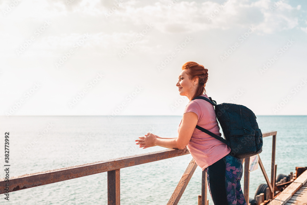
[[[196,164],[207,171],[208,187],[215,205],[244,204],[240,179],[242,177],[242,162],[230,156],[230,148],[220,140],[196,129],[196,125],[221,136],[212,104],[202,99],[193,100],[205,94],[208,80],[208,69],[196,62],[187,62],[179,74],[179,94],[190,100],[185,108],[178,127],[177,138],[161,138],[151,133],[139,137],[136,144],[140,148],[161,146],[165,148],[183,149],[187,147]]]

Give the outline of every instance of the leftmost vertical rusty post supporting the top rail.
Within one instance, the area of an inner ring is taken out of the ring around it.
[[[108,205],[120,205],[119,169],[108,171]]]

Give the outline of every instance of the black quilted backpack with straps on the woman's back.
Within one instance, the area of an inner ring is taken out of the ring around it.
[[[226,140],[198,125],[196,128],[227,144],[231,148],[231,156],[243,159],[262,152],[262,133],[253,111],[239,104],[216,104],[211,97],[210,100],[203,96],[195,99],[203,99],[215,106],[216,118]]]

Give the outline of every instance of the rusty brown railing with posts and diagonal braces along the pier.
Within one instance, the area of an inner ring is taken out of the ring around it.
[[[262,162],[259,158],[259,165],[265,176],[265,179],[273,190],[272,196],[274,194],[274,184],[275,184],[275,146],[276,146],[276,131],[265,132],[263,137],[273,136],[273,148],[272,148],[272,171],[271,171],[271,184],[269,183],[268,177],[264,171]],[[136,166],[140,164],[146,164],[149,162],[165,160],[173,158],[176,156],[183,156],[190,154],[187,148],[185,149],[167,149],[157,152],[149,152],[141,155],[121,157],[106,161],[94,162],[89,164],[82,164],[72,167],[54,169],[49,171],[42,171],[33,174],[25,174],[21,176],[14,176],[10,178],[9,191],[18,191],[21,189],[37,187],[45,184],[56,183],[68,179],[75,179],[82,176],[88,176],[92,174],[98,174],[102,172],[107,172],[107,183],[108,183],[108,205],[118,205],[120,204],[120,169]],[[249,191],[249,157],[244,159],[244,197],[248,201],[248,191]],[[188,164],[187,169],[182,175],[177,187],[175,188],[172,196],[168,201],[168,205],[177,204],[181,198],[181,195],[185,191],[188,182],[190,181],[194,171],[196,170],[195,160],[192,159]],[[201,199],[199,199],[199,204],[208,205],[207,201],[207,173],[202,172],[202,186],[201,186]],[[5,178],[0,179],[0,194],[5,193],[6,187]],[[248,183],[248,184],[246,184]],[[199,197],[200,198],[200,197]]]

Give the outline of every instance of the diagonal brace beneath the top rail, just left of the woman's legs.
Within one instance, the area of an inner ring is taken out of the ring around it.
[[[185,188],[187,187],[195,169],[197,167],[197,164],[195,162],[194,159],[191,160],[191,162],[189,163],[188,167],[185,170],[185,173],[183,173],[179,183],[177,184],[177,187],[175,188],[171,198],[169,199],[169,201],[167,202],[167,205],[176,205],[183,192],[185,191]]]

